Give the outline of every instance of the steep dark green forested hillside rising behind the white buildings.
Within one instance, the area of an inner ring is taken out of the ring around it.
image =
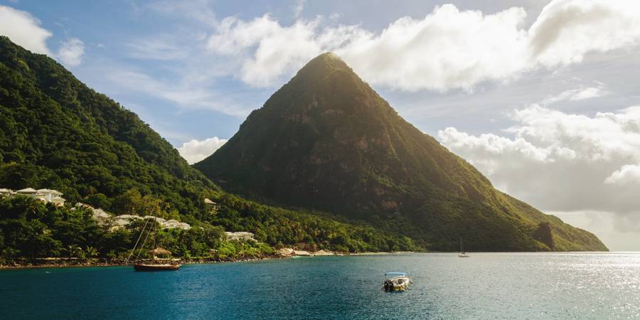
[[[55,60],[0,37],[0,186],[55,188],[68,201],[115,210],[135,188],[186,220],[217,188],[136,114],[73,77]]]

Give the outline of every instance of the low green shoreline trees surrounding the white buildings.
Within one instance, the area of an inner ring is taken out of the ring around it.
[[[207,222],[195,228],[161,230],[156,225],[157,245],[174,257],[219,260],[272,255],[274,246],[284,245],[343,252],[416,249],[409,238],[382,235],[373,228],[262,206],[228,194],[220,196],[220,203],[220,210],[210,212]],[[43,257],[122,261],[131,254],[143,228],[144,220],[112,229],[98,225],[88,208],[60,208],[24,196],[3,197],[0,263]],[[223,241],[225,228],[254,230],[258,242]],[[145,243],[134,257],[149,256],[151,240]]]

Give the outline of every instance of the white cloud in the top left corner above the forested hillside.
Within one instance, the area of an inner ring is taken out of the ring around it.
[[[26,11],[0,6],[0,34],[27,50],[49,55],[46,41],[52,34],[40,24]]]

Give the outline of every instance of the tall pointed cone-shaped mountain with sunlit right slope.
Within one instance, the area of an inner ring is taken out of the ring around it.
[[[299,70],[196,168],[225,190],[366,220],[430,250],[457,250],[460,238],[466,250],[607,250],[496,191],[331,53]],[[536,233],[545,222],[553,237]]]

